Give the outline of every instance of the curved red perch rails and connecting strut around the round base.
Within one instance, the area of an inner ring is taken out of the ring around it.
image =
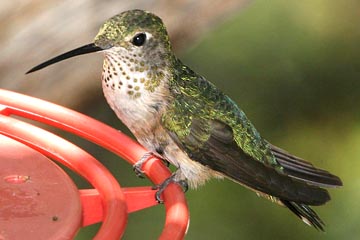
[[[119,239],[125,230],[129,212],[156,205],[155,191],[150,187],[121,188],[110,172],[91,155],[44,129],[12,118],[13,115],[76,134],[117,154],[130,164],[139,160],[147,150],[120,131],[88,116],[37,98],[0,89],[0,134],[64,164],[95,187],[79,191],[82,208],[79,227],[102,222],[94,239]],[[171,174],[156,157],[150,157],[143,165],[143,170],[154,184],[161,183]],[[3,172],[0,172],[0,176],[1,173]],[[31,178],[11,174],[0,179],[12,184],[21,184],[27,180],[31,181]],[[189,223],[189,212],[182,189],[176,184],[169,185],[163,193],[163,199],[166,219],[159,239],[183,239]],[[0,216],[0,221],[1,219]],[[52,220],[56,221],[57,217]],[[1,234],[0,232],[0,239],[6,239]]]

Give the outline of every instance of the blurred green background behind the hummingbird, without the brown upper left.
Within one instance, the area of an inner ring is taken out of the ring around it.
[[[235,100],[264,138],[344,183],[330,190],[332,201],[314,208],[326,223],[321,233],[235,183],[212,180],[186,194],[186,239],[359,238],[359,9],[356,0],[253,1],[177,53]],[[83,112],[130,134],[103,98]],[[78,141],[122,186],[151,184],[116,156]],[[161,205],[131,214],[124,239],[156,239],[163,223]],[[76,239],[90,239],[98,227],[82,229]]]

